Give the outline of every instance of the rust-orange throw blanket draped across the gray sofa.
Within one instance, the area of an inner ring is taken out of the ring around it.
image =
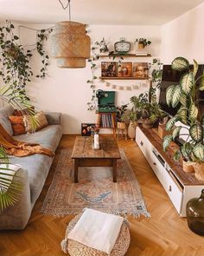
[[[42,148],[39,144],[16,141],[7,133],[1,124],[0,145],[5,149],[7,154],[15,156],[27,156],[31,154],[47,154],[48,156],[54,156],[51,150],[48,148]]]

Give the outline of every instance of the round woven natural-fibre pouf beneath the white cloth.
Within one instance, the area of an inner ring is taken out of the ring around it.
[[[68,233],[73,229],[76,225],[77,221],[80,220],[80,216],[82,213],[77,215],[73,220],[71,220],[67,226],[67,231],[65,237],[67,237]],[[120,233],[118,235],[118,240],[116,241],[115,246],[112,249],[112,253],[110,256],[124,256],[127,252],[131,242],[131,235],[129,231],[129,225],[126,221],[121,226]],[[67,242],[67,252],[71,256],[107,256],[107,253],[101,252],[96,249],[92,249],[88,246],[84,246],[81,243],[68,240]]]

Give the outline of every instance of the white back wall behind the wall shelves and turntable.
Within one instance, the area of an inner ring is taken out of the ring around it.
[[[30,25],[34,28],[48,28],[50,25]],[[87,28],[92,43],[101,40],[103,37],[109,41],[109,46],[113,49],[113,43],[119,41],[124,36],[127,41],[134,42],[137,37],[148,37],[152,41],[149,51],[152,56],[159,56],[160,53],[160,27],[158,26],[105,26],[92,25]],[[21,29],[22,44],[35,43],[35,32],[32,30]],[[48,42],[48,53],[50,54],[50,40]],[[132,52],[135,46],[132,45]],[[105,60],[105,59],[103,59]],[[109,61],[106,58],[105,61]],[[129,62],[150,62],[151,58],[134,58],[125,59]],[[100,75],[100,62],[96,75]],[[35,69],[39,68],[40,62],[35,58],[33,61]],[[54,59],[50,60],[48,66],[48,77],[41,81],[35,79],[29,85],[29,95],[35,100],[35,105],[45,111],[59,111],[63,114],[63,132],[64,133],[80,133],[81,122],[95,122],[96,115],[94,112],[87,111],[86,103],[90,101],[92,90],[90,85],[86,83],[92,78],[89,63],[85,69],[59,69]],[[127,103],[132,95],[137,95],[142,91],[148,90],[148,84],[143,81],[110,81],[112,84],[120,85],[139,85],[139,89],[132,91],[118,91],[116,104]],[[97,89],[112,89],[105,87],[105,82],[99,82]]]

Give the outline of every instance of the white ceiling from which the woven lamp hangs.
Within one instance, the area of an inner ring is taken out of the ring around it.
[[[66,4],[67,0],[61,0]],[[72,20],[86,24],[162,25],[204,0],[71,0]],[[56,23],[68,19],[59,0],[0,0],[0,22]]]

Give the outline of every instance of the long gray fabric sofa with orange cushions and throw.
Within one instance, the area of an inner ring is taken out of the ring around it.
[[[10,135],[13,135],[13,131],[8,116],[12,115],[13,110],[10,106],[0,108],[0,123]],[[62,135],[61,114],[46,113],[46,117],[48,127],[42,128],[34,134],[18,135],[14,138],[19,141],[39,143],[42,147],[54,152]],[[23,229],[27,225],[35,201],[41,194],[53,159],[44,154],[34,154],[26,157],[10,156],[10,163],[20,166],[14,180],[20,179],[23,189],[20,200],[13,207],[8,207],[3,213],[0,213],[0,229]]]

